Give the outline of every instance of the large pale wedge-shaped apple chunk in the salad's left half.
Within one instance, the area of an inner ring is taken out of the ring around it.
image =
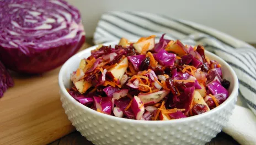
[[[118,65],[116,65],[114,68],[111,68],[109,71],[113,74],[113,76],[116,79],[121,80],[122,75],[125,74],[127,67],[128,67],[128,59],[124,58]]]

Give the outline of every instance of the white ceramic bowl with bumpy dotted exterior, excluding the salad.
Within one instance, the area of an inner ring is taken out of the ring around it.
[[[177,120],[143,121],[106,115],[78,103],[66,91],[71,86],[70,75],[78,68],[80,60],[89,57],[90,51],[96,47],[68,59],[58,76],[62,107],[72,125],[87,140],[94,144],[205,144],[227,124],[237,101],[238,79],[231,66],[207,51],[207,57],[221,64],[223,78],[231,82],[230,97],[207,113]]]

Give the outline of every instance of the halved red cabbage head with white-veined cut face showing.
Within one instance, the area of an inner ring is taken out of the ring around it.
[[[9,0],[0,7],[0,60],[9,69],[54,69],[85,41],[79,11],[66,1]]]

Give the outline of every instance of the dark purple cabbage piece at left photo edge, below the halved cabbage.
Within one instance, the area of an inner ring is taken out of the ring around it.
[[[6,67],[0,62],[0,98],[9,87],[13,87],[14,82]]]

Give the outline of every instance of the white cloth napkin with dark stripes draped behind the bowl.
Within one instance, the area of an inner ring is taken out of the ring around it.
[[[202,44],[232,66],[239,80],[239,96],[223,131],[241,144],[256,144],[256,49],[246,42],[210,27],[164,15],[109,12],[103,14],[98,23],[94,43],[116,41],[121,37],[136,40],[156,35],[160,38],[164,33],[170,40],[179,39],[191,46]]]

